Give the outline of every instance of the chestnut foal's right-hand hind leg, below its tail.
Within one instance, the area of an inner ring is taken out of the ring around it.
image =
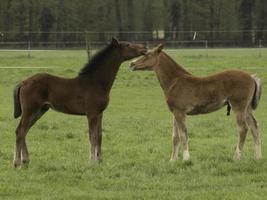
[[[255,157],[256,159],[261,159],[262,154],[261,154],[261,138],[259,133],[259,126],[256,119],[252,115],[251,111],[247,113],[247,123],[249,128],[251,129],[251,133],[254,139]]]

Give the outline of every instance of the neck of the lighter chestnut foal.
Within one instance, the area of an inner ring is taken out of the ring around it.
[[[159,62],[154,67],[154,71],[164,92],[169,90],[177,78],[191,75],[164,52],[160,53],[158,59]]]

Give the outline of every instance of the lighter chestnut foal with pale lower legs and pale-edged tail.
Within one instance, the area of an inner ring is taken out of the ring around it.
[[[256,75],[228,70],[207,77],[197,77],[177,64],[160,44],[154,50],[130,63],[131,70],[153,70],[174,116],[171,160],[178,159],[178,144],[183,146],[183,160],[189,160],[187,115],[205,114],[227,105],[236,115],[239,141],[234,158],[241,158],[248,129],[254,139],[255,157],[262,158],[258,123],[252,114],[261,96],[261,81]]]

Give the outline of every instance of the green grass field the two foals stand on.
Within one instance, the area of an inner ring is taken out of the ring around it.
[[[224,108],[188,117],[191,161],[182,162],[180,154],[169,162],[172,115],[158,81],[153,72],[130,72],[124,63],[104,114],[101,164],[89,162],[85,117],[49,111],[27,136],[29,167],[14,169],[13,87],[37,72],[76,76],[86,54],[41,51],[29,59],[25,52],[0,52],[0,199],[266,199],[267,49],[261,57],[257,49],[168,52],[195,75],[241,69],[261,77],[255,116],[262,160],[254,159],[251,134],[241,161],[233,159],[237,128]]]

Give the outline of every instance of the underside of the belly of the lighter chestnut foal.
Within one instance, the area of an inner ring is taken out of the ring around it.
[[[211,113],[220,108],[224,107],[227,104],[226,101],[221,102],[212,102],[212,103],[204,103],[200,105],[195,105],[194,107],[190,108],[187,112],[188,115],[197,115],[197,114],[206,114]]]

